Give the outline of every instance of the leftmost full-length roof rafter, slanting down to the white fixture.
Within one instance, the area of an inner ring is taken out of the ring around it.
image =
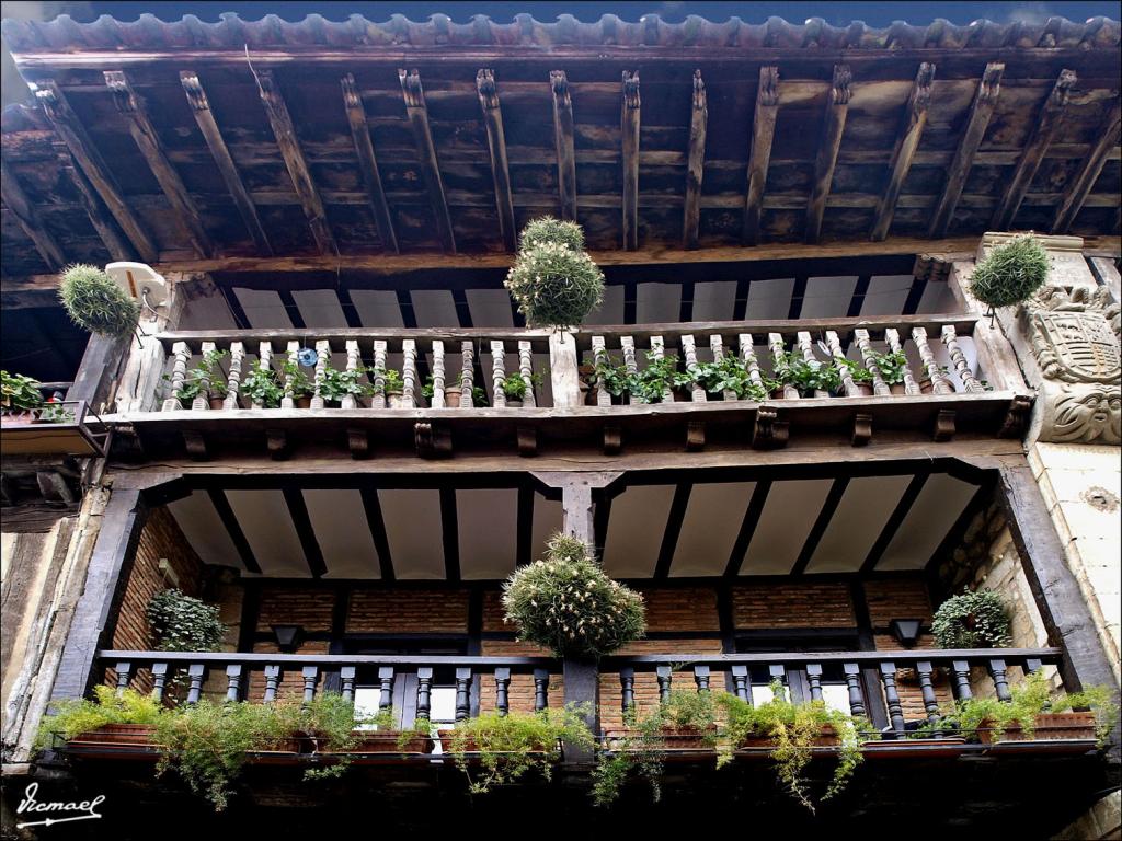
[[[94,192],[105,203],[109,212],[117,220],[125,235],[128,237],[136,255],[145,262],[156,262],[159,259],[156,244],[134,215],[128,202],[125,201],[117,179],[112,176],[101,157],[101,153],[93,145],[93,140],[90,139],[77,115],[71,110],[62,90],[54,81],[31,84],[30,87],[36,100],[43,105],[43,111],[50,124],[81,167],[82,174],[89,179]]]

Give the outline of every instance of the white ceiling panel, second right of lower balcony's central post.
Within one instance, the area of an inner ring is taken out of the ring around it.
[[[693,486],[670,564],[672,577],[725,572],[755,487],[755,482]]]

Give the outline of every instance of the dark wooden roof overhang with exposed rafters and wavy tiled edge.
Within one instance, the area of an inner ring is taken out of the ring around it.
[[[36,94],[3,114],[8,276],[126,258],[470,266],[544,213],[634,261],[1119,230],[1105,18],[63,16],[3,35]]]

